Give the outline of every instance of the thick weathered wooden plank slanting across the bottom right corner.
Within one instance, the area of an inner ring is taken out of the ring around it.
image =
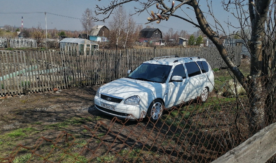
[[[259,163],[276,154],[276,123],[273,123],[212,163]]]

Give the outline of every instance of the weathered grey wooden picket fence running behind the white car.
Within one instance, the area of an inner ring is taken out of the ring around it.
[[[241,62],[240,49],[231,49],[230,55],[236,65]],[[142,62],[160,56],[200,56],[206,58],[212,68],[226,66],[212,47],[108,50],[86,54],[78,55],[72,51],[0,51],[0,95],[108,83],[126,76],[127,70],[133,70]]]

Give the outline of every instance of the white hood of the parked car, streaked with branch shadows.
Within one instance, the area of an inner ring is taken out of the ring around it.
[[[101,86],[100,93],[127,99],[128,97],[139,95],[161,84],[130,78],[120,78]]]

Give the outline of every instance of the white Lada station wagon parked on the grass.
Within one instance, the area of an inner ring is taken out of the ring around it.
[[[164,108],[197,97],[206,101],[213,88],[214,74],[205,59],[166,56],[143,62],[127,77],[101,86],[94,100],[98,110],[111,116],[156,121]]]

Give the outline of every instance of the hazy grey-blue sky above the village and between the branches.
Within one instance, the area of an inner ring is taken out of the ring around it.
[[[168,2],[168,0],[165,0],[165,2],[168,6],[171,5],[171,2]],[[221,7],[220,2],[221,0],[215,0],[215,3],[212,4],[214,15],[221,23],[230,20],[230,22],[234,24],[235,19],[233,19],[230,13],[223,11],[223,7]],[[92,11],[94,11],[95,5],[104,7],[109,3],[110,0],[0,0],[0,26],[10,25],[21,27],[21,18],[23,16],[24,28],[37,27],[38,24],[40,24],[41,27],[45,29],[47,22],[47,29],[56,28],[57,30],[80,31],[83,30],[80,18],[82,18],[82,14],[86,8],[92,9]],[[175,2],[175,6],[178,3],[179,2]],[[205,1],[201,0],[199,4],[203,11],[208,11],[208,7]],[[133,7],[136,5],[137,3],[126,3],[124,5],[124,9],[127,11],[127,13],[134,13]],[[182,10],[178,9],[175,14],[183,16],[187,19],[191,18],[193,21],[196,21],[193,11],[186,7],[189,6],[186,5],[185,7],[181,7]],[[158,11],[155,6],[151,9],[154,12]],[[46,12],[46,22],[44,12]],[[102,18],[102,16],[98,17]],[[143,28],[145,28],[147,25],[150,25],[153,28],[159,28],[162,33],[166,33],[170,28],[173,28],[174,31],[179,32],[181,30],[186,30],[190,34],[198,30],[198,28],[195,28],[190,23],[173,17],[171,17],[168,21],[162,20],[159,24],[156,22],[153,22],[152,24],[145,24],[148,22],[148,17],[149,14],[145,11],[139,15],[134,15],[133,20],[137,24],[142,24]],[[110,19],[111,18],[109,18],[109,20]],[[95,22],[95,25],[105,25],[108,27],[109,20],[106,20],[105,23]],[[212,22],[212,19],[209,20]],[[227,27],[226,24],[223,26]]]

